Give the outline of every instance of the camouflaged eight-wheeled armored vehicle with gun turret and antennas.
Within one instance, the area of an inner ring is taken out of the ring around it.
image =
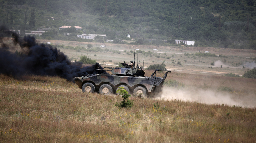
[[[93,93],[97,91],[100,94],[109,95],[115,93],[118,87],[124,87],[130,94],[146,97],[149,94],[159,93],[167,74],[171,73],[171,71],[166,71],[163,77],[157,77],[157,71],[160,71],[157,69],[150,77],[147,77],[144,76],[143,67],[140,67],[139,64],[137,64],[136,68],[134,66],[132,68],[129,67],[125,62],[121,64],[125,67],[104,67],[110,69],[106,71],[111,71],[112,74],[88,74],[82,77],[75,77],[73,80],[83,92]],[[135,62],[133,61],[134,64]]]

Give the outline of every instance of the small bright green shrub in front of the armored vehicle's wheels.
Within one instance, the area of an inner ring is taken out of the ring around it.
[[[116,102],[115,106],[118,107],[119,109],[121,108],[127,108],[127,107],[132,107],[133,102],[132,100],[128,100],[127,98],[130,97],[131,95],[128,94],[128,91],[124,89],[124,87],[119,87],[119,89],[116,91],[116,93],[119,93],[119,95],[122,96],[123,101],[121,101],[119,104]]]

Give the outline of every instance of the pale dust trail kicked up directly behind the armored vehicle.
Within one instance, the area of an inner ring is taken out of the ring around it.
[[[235,96],[229,93],[203,89],[175,89],[163,86],[163,92],[158,99],[179,99],[183,101],[205,104],[224,104],[229,106],[256,107],[256,96]]]

